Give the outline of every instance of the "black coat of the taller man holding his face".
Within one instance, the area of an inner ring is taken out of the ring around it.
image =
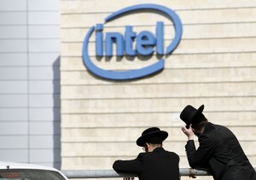
[[[256,180],[253,166],[228,128],[207,123],[198,141],[197,150],[193,140],[185,146],[192,168],[208,167],[217,180]]]

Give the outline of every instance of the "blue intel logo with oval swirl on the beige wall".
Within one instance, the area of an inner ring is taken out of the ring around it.
[[[84,64],[88,70],[101,78],[110,80],[131,80],[135,78],[143,78],[153,73],[158,73],[165,67],[165,60],[155,62],[154,64],[143,67],[140,69],[132,69],[129,71],[110,71],[101,67],[97,67],[93,61],[90,60],[89,55],[89,41],[93,32],[96,33],[96,55],[102,56],[118,56],[123,55],[170,55],[172,51],[177,48],[182,38],[182,23],[177,14],[164,6],[156,4],[140,4],[131,6],[125,9],[120,9],[118,12],[109,15],[105,19],[105,24],[114,20],[121,15],[127,13],[137,13],[140,10],[152,10],[152,12],[159,12],[161,15],[167,15],[168,19],[172,20],[175,29],[175,37],[172,43],[164,47],[164,22],[155,22],[155,33],[149,31],[135,32],[133,26],[125,26],[125,34],[120,32],[107,32],[104,33],[104,25],[97,24],[96,27],[92,26],[84,38],[83,59]],[[105,42],[105,43],[104,43]],[[113,52],[113,47],[116,47],[116,52]]]

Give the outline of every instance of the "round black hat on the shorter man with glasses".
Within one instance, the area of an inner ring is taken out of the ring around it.
[[[154,137],[158,137],[163,141],[166,140],[168,132],[160,131],[158,127],[150,127],[143,131],[142,136],[137,139],[137,145],[143,147],[146,142],[150,142]]]

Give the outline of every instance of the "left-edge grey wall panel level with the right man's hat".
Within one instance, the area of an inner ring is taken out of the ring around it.
[[[27,117],[26,108],[0,108],[0,121],[25,121]]]

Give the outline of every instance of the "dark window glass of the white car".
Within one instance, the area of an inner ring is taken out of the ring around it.
[[[0,180],[66,180],[57,171],[6,169],[0,170]]]

